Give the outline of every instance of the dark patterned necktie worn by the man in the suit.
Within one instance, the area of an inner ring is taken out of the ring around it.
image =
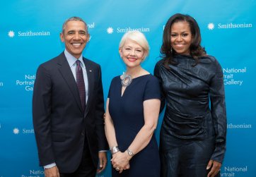
[[[83,111],[86,107],[86,87],[83,80],[83,70],[81,68],[81,61],[76,61],[76,85],[78,87],[78,92],[83,107]]]

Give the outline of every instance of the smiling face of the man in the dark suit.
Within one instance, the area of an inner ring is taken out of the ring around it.
[[[66,50],[78,59],[86,43],[89,35],[86,32],[86,25],[81,21],[69,21],[66,23],[64,32],[60,34],[62,42],[65,42]]]

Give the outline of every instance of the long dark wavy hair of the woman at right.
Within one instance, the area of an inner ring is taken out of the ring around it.
[[[169,68],[169,64],[175,64],[173,57],[175,56],[175,51],[172,49],[170,44],[170,28],[173,23],[177,22],[187,22],[190,25],[190,31],[192,34],[192,42],[190,44],[190,55],[199,63],[199,57],[206,54],[204,47],[201,47],[201,33],[197,21],[194,20],[189,15],[183,15],[176,13],[171,16],[167,23],[165,24],[165,29],[163,30],[163,44],[161,47],[161,57],[164,59],[164,66]]]

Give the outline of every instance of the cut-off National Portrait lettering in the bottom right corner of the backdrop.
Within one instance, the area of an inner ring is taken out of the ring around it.
[[[221,169],[224,170],[221,171],[221,177],[246,176],[245,173],[248,173],[248,166],[224,166]]]

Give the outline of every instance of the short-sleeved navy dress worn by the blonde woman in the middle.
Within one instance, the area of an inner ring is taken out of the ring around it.
[[[153,75],[142,75],[132,80],[122,94],[120,76],[112,79],[109,98],[109,111],[115,127],[117,144],[124,152],[132,144],[137,133],[144,126],[143,102],[147,99],[160,99],[160,85]],[[160,176],[160,157],[156,136],[153,134],[149,145],[129,161],[130,169],[121,174],[112,169],[112,176]]]

